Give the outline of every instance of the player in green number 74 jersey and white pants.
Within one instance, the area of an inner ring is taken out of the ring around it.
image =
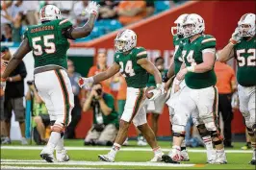
[[[200,134],[210,132],[214,145],[216,146],[216,158],[210,163],[227,163],[223,138],[219,134],[218,128],[218,90],[215,87],[217,78],[214,72],[216,38],[204,35],[205,30],[203,18],[195,13],[185,17],[183,23],[184,41],[182,47],[182,58],[184,63],[177,74],[175,89],[185,78],[186,86],[182,88],[175,103],[174,112],[182,114],[176,115],[186,122],[192,113],[193,122],[197,122]],[[195,111],[194,111],[195,110]],[[197,113],[197,115],[195,114]],[[182,115],[179,116],[179,115]],[[179,128],[178,128],[179,127]],[[176,131],[182,133],[183,127],[177,126]],[[208,130],[208,132],[206,131]],[[178,143],[173,143],[173,148],[169,158],[178,160],[180,147]]]

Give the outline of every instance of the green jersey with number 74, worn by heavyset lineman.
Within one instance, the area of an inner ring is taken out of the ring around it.
[[[202,35],[192,42],[189,38],[184,40],[183,60],[186,66],[192,66],[203,62],[203,50],[216,49],[216,38],[214,36]],[[216,85],[217,77],[214,68],[204,73],[188,72],[185,75],[185,82],[191,88],[199,89]]]

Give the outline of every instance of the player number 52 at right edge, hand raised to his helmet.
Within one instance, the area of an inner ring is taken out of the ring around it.
[[[251,139],[253,157],[251,164],[256,164],[256,51],[255,51],[255,14],[245,13],[238,22],[238,27],[229,43],[219,52],[218,61],[228,61],[235,57],[238,62],[237,80],[240,110],[245,119]]]

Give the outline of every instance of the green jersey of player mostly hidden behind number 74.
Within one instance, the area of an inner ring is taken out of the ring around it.
[[[183,45],[183,37],[179,36],[173,36],[173,45],[175,47],[175,51],[173,54],[174,58],[174,74],[177,75],[178,72],[180,71],[180,67],[183,63],[182,59],[182,45]]]

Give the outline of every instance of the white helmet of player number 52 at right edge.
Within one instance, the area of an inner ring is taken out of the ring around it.
[[[255,35],[255,14],[245,13],[238,23],[239,36]]]

